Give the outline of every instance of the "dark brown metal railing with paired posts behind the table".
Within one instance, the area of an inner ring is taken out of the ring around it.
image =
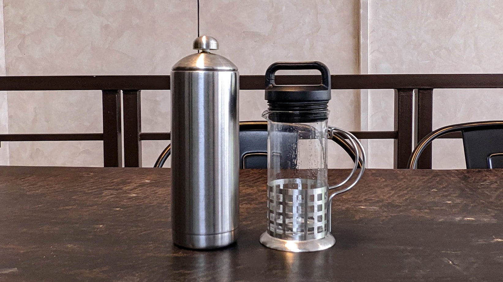
[[[316,84],[320,81],[316,75],[276,77],[278,83],[284,84]],[[503,74],[332,75],[331,79],[332,89],[395,89],[394,129],[353,132],[361,139],[394,139],[395,168],[406,168],[412,145],[415,145],[413,136],[420,140],[432,131],[434,88],[503,88]],[[241,75],[240,89],[262,90],[264,81],[263,75]],[[0,91],[101,90],[103,97],[103,133],[0,134],[0,142],[103,140],[105,167],[122,166],[123,152],[126,167],[139,167],[142,140],[169,140],[171,137],[169,132],[141,131],[141,90],[167,89],[170,89],[167,75],[0,77]],[[414,90],[416,95],[413,95]],[[412,103],[416,108],[414,116]],[[124,128],[121,126],[122,117]],[[413,122],[415,134],[412,132]],[[450,134],[445,137],[461,136]],[[431,168],[431,149],[424,151],[418,168]]]

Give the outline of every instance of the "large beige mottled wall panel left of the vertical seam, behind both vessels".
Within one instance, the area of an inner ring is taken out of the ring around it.
[[[5,0],[8,75],[168,74],[176,61],[193,52],[195,3]],[[201,20],[201,32],[219,40],[218,53],[231,59],[241,74],[263,74],[269,64],[281,60],[319,60],[332,73],[358,72],[356,0],[207,1],[201,3]],[[247,92],[250,94],[241,94],[240,98],[241,119],[259,119],[266,104],[263,93]],[[335,92],[330,122],[359,129],[357,94]],[[94,131],[98,128],[82,125],[80,120],[83,116],[101,118],[101,100],[86,95],[92,94],[80,93],[54,106],[38,93],[9,93],[9,104],[12,98],[17,108],[11,113],[10,123],[23,132]],[[142,91],[142,103],[143,131],[170,129],[169,91]],[[23,111],[36,114],[26,116]],[[55,120],[58,115],[72,121]],[[43,161],[37,159],[42,155],[35,153],[35,145],[26,146],[15,145],[11,161]],[[83,144],[44,146],[44,150],[58,147],[73,153],[70,155],[86,150]],[[98,152],[101,145],[96,146],[88,154]],[[145,142],[144,165],[151,166],[164,146],[162,142]],[[22,152],[25,150],[28,152]],[[57,155],[43,158],[55,158],[50,159],[51,164],[59,161]],[[343,163],[341,160],[334,165]]]

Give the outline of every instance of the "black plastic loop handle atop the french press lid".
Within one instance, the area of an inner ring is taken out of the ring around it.
[[[274,74],[279,70],[319,70],[321,72],[321,84],[330,89],[330,71],[322,62],[276,62],[267,68],[266,87],[275,84]]]

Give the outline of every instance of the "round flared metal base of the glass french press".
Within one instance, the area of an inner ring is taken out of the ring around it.
[[[275,238],[266,232],[260,236],[260,243],[264,246],[289,252],[312,252],[327,249],[336,243],[336,238],[328,233],[324,238],[305,241],[283,240]]]

